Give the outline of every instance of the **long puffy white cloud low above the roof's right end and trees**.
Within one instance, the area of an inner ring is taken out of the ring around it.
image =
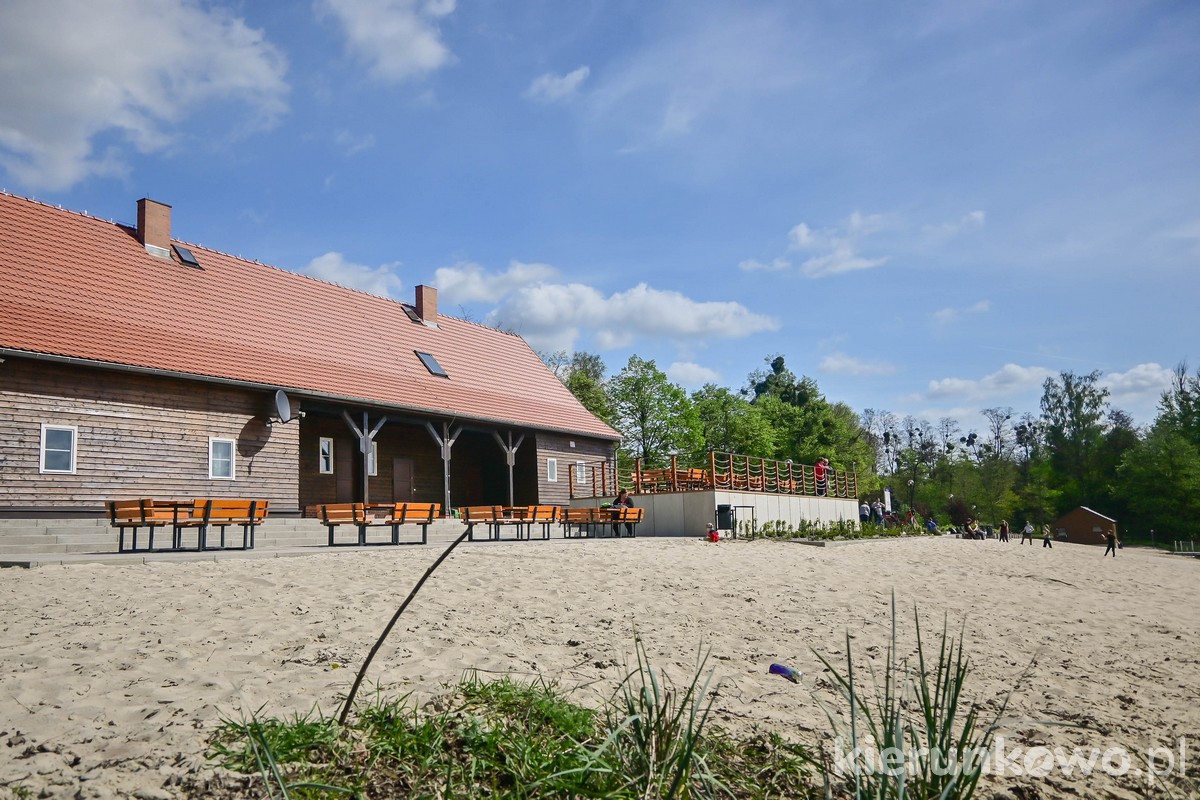
[[[779,329],[775,319],[742,303],[702,302],[644,283],[607,297],[578,283],[538,283],[514,291],[488,319],[512,327],[538,348],[564,350],[574,349],[584,331],[599,348],[611,349],[640,337],[695,342]]]

